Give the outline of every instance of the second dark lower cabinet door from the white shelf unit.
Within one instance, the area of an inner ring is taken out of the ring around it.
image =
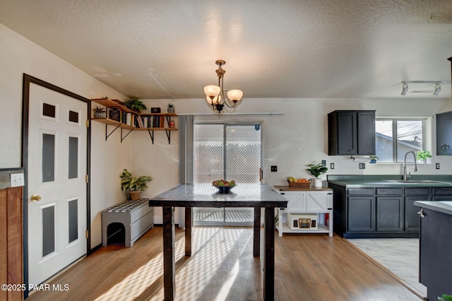
[[[379,196],[376,198],[376,230],[401,232],[404,226],[404,203],[402,196]]]

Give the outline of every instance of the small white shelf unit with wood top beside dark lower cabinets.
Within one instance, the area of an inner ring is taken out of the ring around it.
[[[328,187],[288,187],[275,186],[287,199],[287,208],[277,208],[278,222],[275,224],[279,236],[291,234],[320,234],[333,237],[333,189]],[[317,216],[317,229],[290,229],[287,226],[287,213],[312,214]]]

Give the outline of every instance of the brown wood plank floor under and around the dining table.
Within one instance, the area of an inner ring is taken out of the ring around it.
[[[252,255],[252,232],[194,228],[192,256],[184,259],[177,229],[177,300],[263,300],[263,259]],[[276,233],[275,254],[275,300],[421,300],[337,235]],[[157,227],[131,248],[102,247],[28,300],[163,300],[162,262]]]

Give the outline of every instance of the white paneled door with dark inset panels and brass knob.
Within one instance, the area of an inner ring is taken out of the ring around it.
[[[28,281],[46,281],[86,254],[86,102],[30,84]]]

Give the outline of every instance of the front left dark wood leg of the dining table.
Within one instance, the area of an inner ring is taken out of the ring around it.
[[[165,300],[176,296],[176,261],[174,252],[174,207],[163,207],[163,287]]]

